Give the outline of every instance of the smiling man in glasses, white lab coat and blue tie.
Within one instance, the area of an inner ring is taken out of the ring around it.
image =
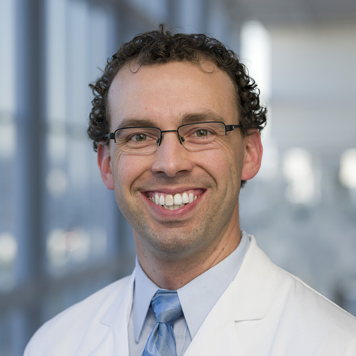
[[[266,109],[234,53],[161,26],[92,88],[88,132],[136,268],[46,323],[25,355],[356,355],[355,318],[241,232]]]

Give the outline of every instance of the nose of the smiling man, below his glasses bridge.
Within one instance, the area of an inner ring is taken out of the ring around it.
[[[193,168],[188,152],[179,142],[177,132],[164,132],[161,145],[155,152],[152,162],[153,173],[164,173],[167,177],[175,177],[182,172],[190,172]]]

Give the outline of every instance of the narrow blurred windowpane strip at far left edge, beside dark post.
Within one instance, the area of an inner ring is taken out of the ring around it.
[[[14,285],[15,1],[0,2],[0,293]]]

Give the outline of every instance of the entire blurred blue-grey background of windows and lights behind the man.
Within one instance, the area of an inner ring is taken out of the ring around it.
[[[0,355],[132,271],[130,226],[86,137],[93,82],[122,41],[167,23],[239,53],[269,108],[241,225],[356,315],[356,2],[0,1]]]

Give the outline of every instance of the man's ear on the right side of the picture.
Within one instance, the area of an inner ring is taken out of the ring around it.
[[[244,137],[244,143],[245,156],[244,164],[242,166],[241,180],[248,180],[255,177],[261,167],[263,148],[260,132],[258,132],[258,130],[249,132],[248,135]]]

